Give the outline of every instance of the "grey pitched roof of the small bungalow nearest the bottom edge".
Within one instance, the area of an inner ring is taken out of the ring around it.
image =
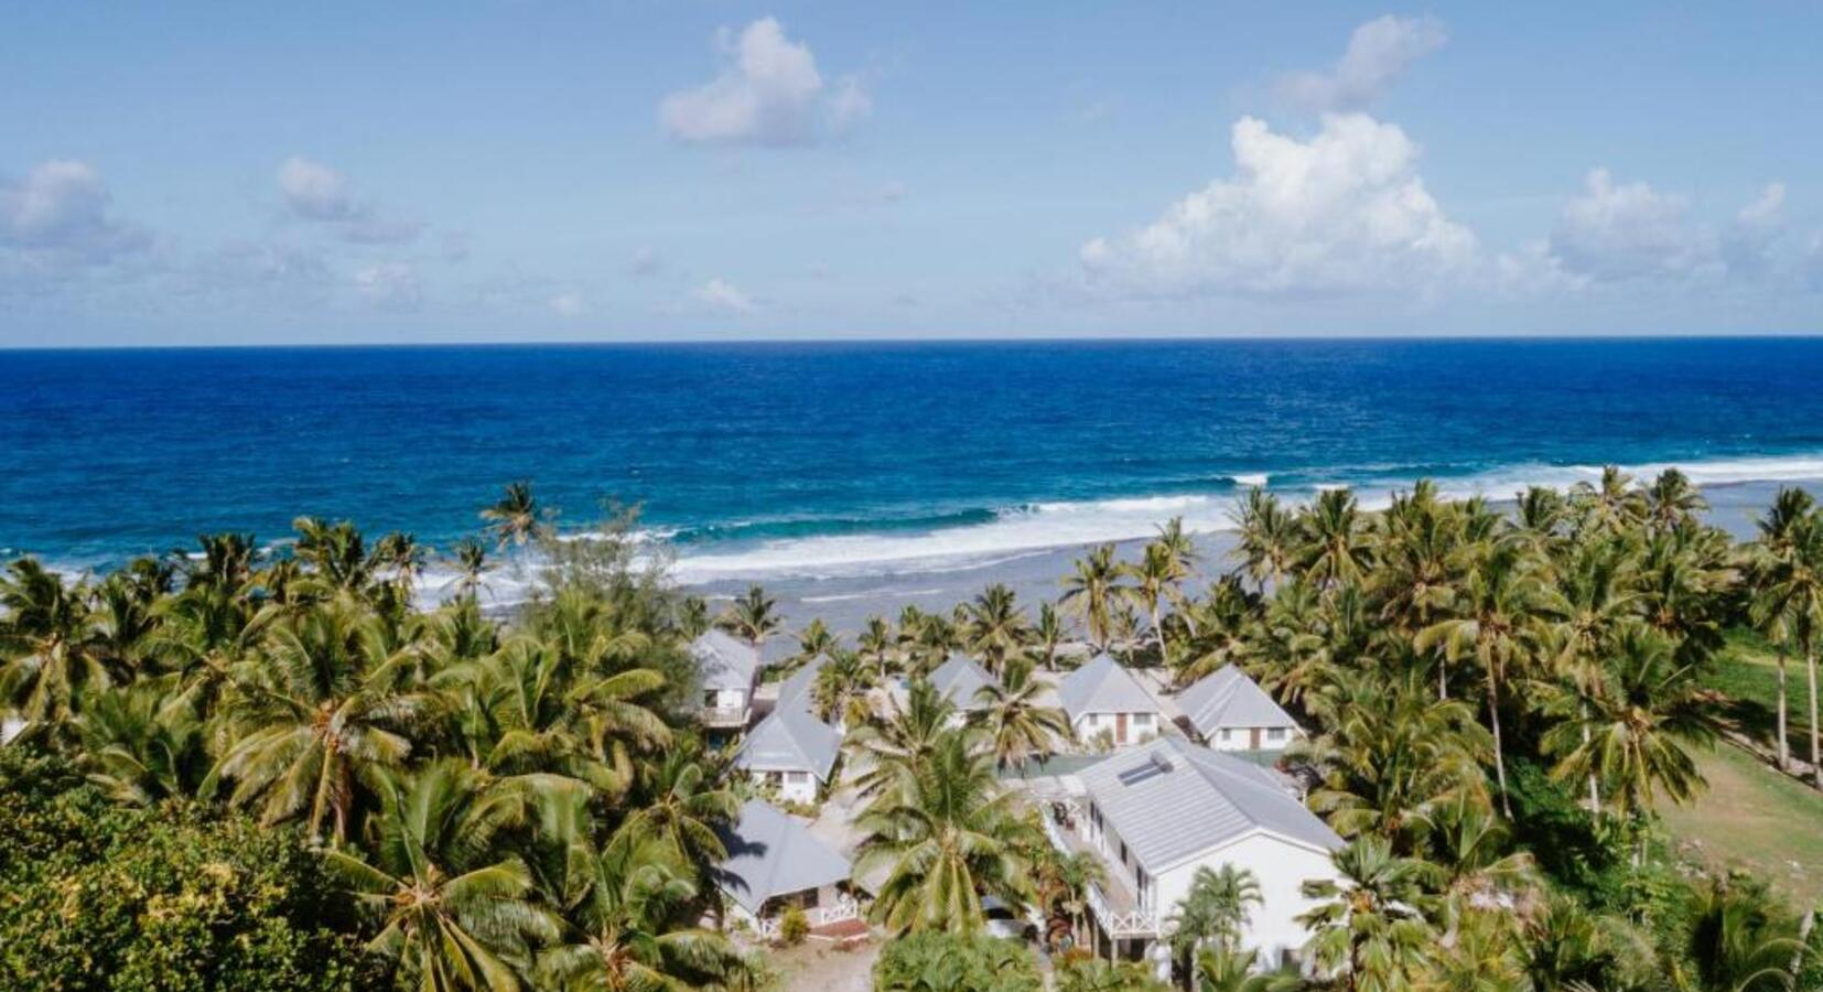
[[[749,799],[740,822],[716,828],[716,835],[727,859],[715,866],[715,881],[751,914],[773,895],[842,883],[851,872],[846,857],[758,799]]]

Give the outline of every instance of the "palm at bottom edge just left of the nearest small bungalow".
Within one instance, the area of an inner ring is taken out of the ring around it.
[[[591,859],[587,888],[569,906],[574,923],[538,961],[549,987],[687,992],[749,966],[727,937],[680,925],[698,888],[676,852],[642,833],[622,826]]]

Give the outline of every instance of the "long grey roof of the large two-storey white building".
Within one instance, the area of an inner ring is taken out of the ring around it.
[[[1342,846],[1265,768],[1174,737],[1119,751],[1077,777],[1152,873],[1256,830],[1325,852]]]

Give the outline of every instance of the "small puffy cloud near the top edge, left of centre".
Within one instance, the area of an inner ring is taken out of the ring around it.
[[[809,46],[786,36],[777,18],[760,18],[733,36],[722,29],[722,73],[658,104],[658,122],[685,142],[809,144],[839,133],[873,111],[857,77],[831,88],[817,71]]]

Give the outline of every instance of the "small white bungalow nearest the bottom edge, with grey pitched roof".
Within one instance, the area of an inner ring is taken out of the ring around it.
[[[778,934],[786,906],[804,910],[811,926],[859,919],[848,894],[851,866],[798,821],[758,799],[740,808],[740,822],[716,830],[727,859],[715,879],[727,895],[727,915],[753,926],[760,937]]]

